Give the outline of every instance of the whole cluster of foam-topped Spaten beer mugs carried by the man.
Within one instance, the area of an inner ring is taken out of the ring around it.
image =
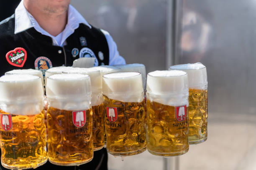
[[[33,69],[0,77],[5,168],[36,168],[47,159],[55,165],[81,165],[105,140],[112,155],[147,149],[164,157],[182,155],[189,144],[207,140],[207,72],[201,63],[149,72],[147,81],[142,64],[53,67],[43,84],[47,125],[43,82],[42,72]]]

